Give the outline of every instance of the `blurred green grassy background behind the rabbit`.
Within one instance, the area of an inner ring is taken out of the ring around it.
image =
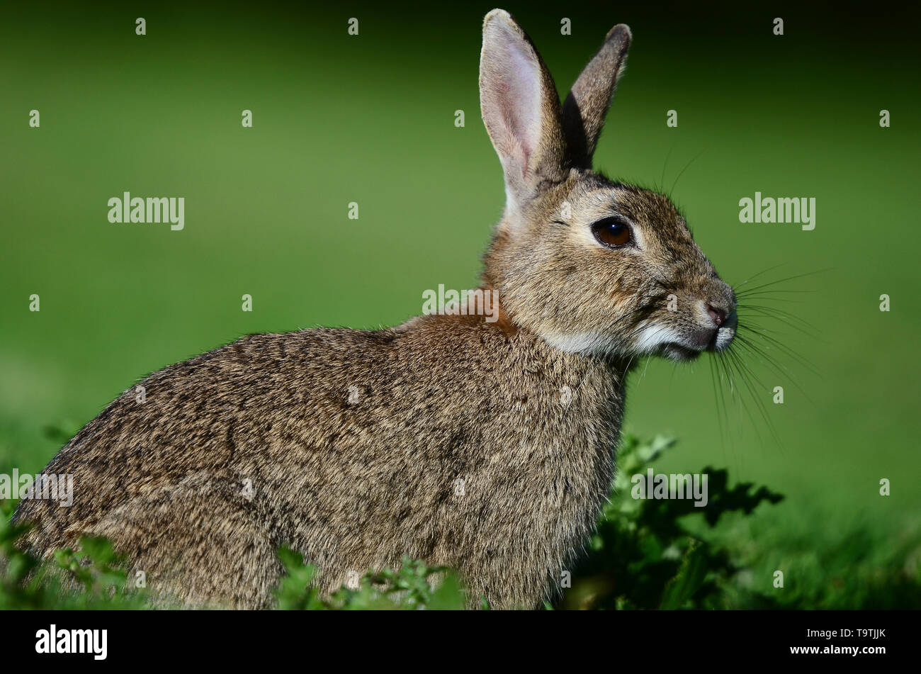
[[[392,325],[421,312],[426,288],[472,287],[504,199],[477,90],[491,5],[94,7],[6,6],[0,25],[4,472],[40,471],[137,378],[242,334]],[[916,573],[917,9],[505,8],[561,95],[628,23],[596,167],[670,192],[731,284],[819,272],[768,298],[811,336],[759,321],[818,375],[785,354],[780,374],[747,359],[781,442],[754,407],[718,413],[705,359],[644,363],[625,430],[681,438],[659,471],[710,464],[787,495],[727,529],[755,584],[777,568],[828,587]],[[124,191],[185,197],[185,229],[110,224]],[[815,229],[740,224],[755,191],[815,197]]]

